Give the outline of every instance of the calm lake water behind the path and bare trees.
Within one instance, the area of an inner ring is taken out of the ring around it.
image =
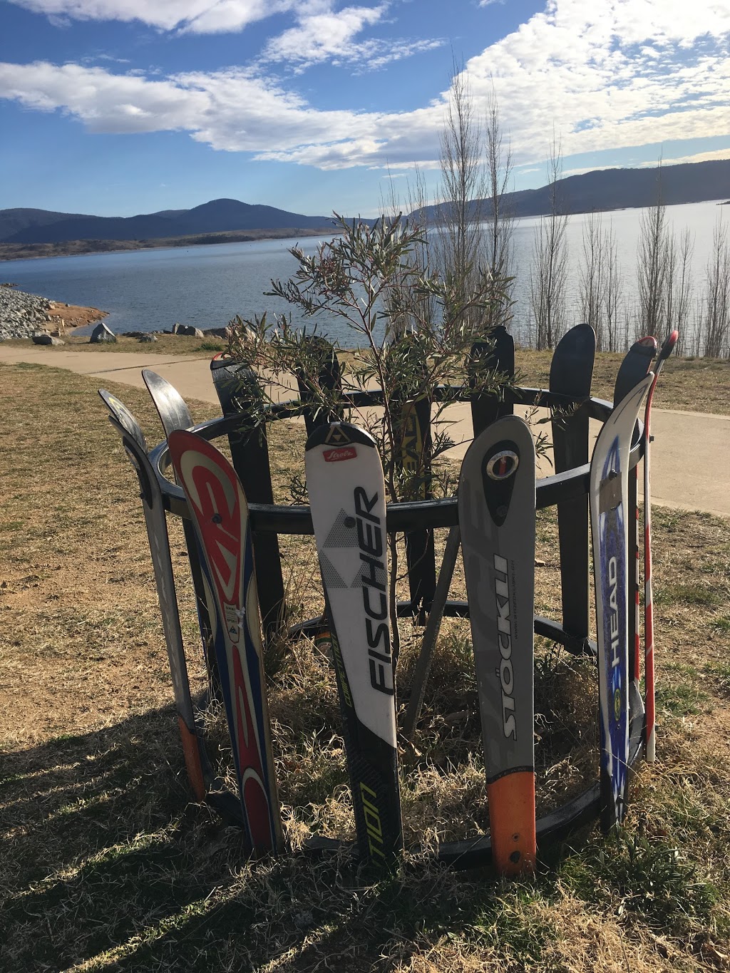
[[[624,209],[602,216],[603,229],[611,225],[616,235],[624,299],[629,306],[636,298],[636,254],[642,212]],[[667,208],[675,232],[687,227],[694,234],[692,267],[696,297],[712,249],[712,228],[722,213],[727,214],[726,219],[730,218],[728,209],[721,209],[715,202]],[[586,215],[572,216],[568,223],[569,324],[580,319],[578,273],[587,219]],[[532,241],[538,222],[537,217],[529,217],[518,220],[515,225],[517,305],[513,331],[523,339],[528,320]],[[264,292],[270,289],[272,277],[285,279],[296,270],[296,261],[288,252],[288,247],[296,242],[311,252],[318,238],[12,261],[0,265],[0,280],[13,281],[23,291],[55,301],[108,310],[107,324],[116,332],[161,331],[171,328],[176,321],[199,328],[222,327],[236,314],[251,317],[264,310],[271,314],[289,309],[282,302],[264,297]],[[320,328],[333,340],[351,345],[351,336],[340,322],[322,320]]]

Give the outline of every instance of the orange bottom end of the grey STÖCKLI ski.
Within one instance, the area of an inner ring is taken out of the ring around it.
[[[487,785],[494,867],[507,877],[534,871],[534,773],[516,771]]]

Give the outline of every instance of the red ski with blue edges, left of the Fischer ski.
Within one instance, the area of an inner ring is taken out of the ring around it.
[[[216,659],[244,829],[253,851],[283,850],[248,505],[235,471],[195,433],[168,439],[204,554]]]

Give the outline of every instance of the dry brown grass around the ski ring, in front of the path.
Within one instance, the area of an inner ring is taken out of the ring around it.
[[[112,390],[157,442],[146,393]],[[210,413],[192,405],[196,418]],[[0,410],[2,969],[730,968],[730,523],[655,512],[660,763],[639,770],[619,839],[587,828],[519,883],[452,873],[418,850],[486,825],[468,625],[453,621],[439,641],[417,750],[402,754],[413,850],[397,873],[374,881],[347,858],[297,850],[312,832],[352,831],[334,679],[308,642],[291,647],[270,687],[294,851],[248,863],[237,831],[189,803],[136,481],[94,380],[0,367]],[[283,499],[303,431],[279,423],[272,443]],[[288,539],[285,548],[292,600],[316,614],[311,544]],[[538,610],[555,615],[547,512],[538,552]],[[456,596],[462,586],[456,577]],[[402,687],[419,632],[404,625]],[[537,656],[542,812],[595,776],[595,677],[541,641]]]

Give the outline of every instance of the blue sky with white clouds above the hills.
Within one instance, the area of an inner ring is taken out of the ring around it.
[[[730,158],[729,55],[720,0],[0,0],[0,209],[435,199],[455,63],[515,189],[554,133],[565,174]]]

